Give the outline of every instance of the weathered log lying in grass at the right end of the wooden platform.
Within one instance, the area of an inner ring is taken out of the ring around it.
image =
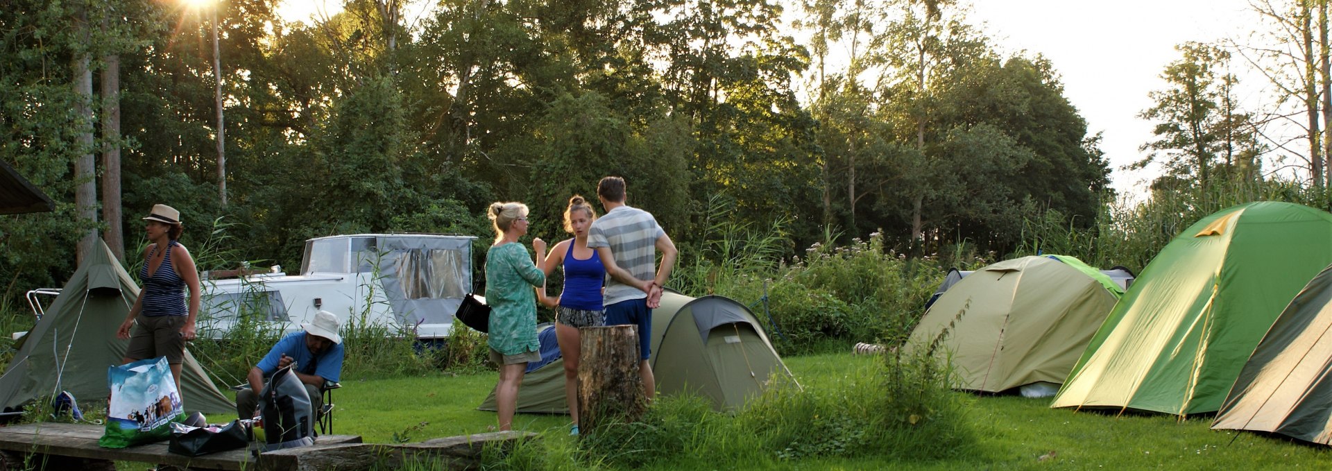
[[[274,450],[258,455],[258,468],[264,471],[350,471],[398,470],[405,467],[433,467],[445,470],[478,470],[481,454],[488,447],[498,447],[507,454],[522,440],[537,434],[502,431],[477,435],[437,438],[420,443],[356,443]]]

